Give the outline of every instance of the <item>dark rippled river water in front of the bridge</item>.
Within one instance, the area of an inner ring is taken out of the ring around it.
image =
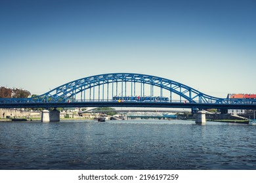
[[[256,126],[0,122],[0,169],[256,169]]]

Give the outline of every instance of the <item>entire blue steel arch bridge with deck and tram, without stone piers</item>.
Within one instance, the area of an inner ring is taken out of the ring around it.
[[[256,109],[256,99],[219,98],[158,76],[88,76],[30,98],[0,99],[0,108],[161,107]]]

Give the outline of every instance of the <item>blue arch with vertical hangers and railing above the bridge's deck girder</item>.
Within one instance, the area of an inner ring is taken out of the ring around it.
[[[118,96],[121,100],[114,101],[115,96]],[[126,101],[125,97],[127,96],[139,98],[148,96],[149,99],[158,97],[158,100]],[[163,101],[163,97],[168,97],[168,101]],[[4,106],[4,104],[15,103],[55,103],[60,107],[61,104],[64,103],[110,104],[117,102],[182,103],[187,105],[256,105],[256,99],[226,99],[213,97],[179,82],[158,76],[135,73],[110,73],[74,80],[62,86],[58,86],[43,95],[38,95],[37,97],[26,99],[0,99],[0,107],[7,106]]]

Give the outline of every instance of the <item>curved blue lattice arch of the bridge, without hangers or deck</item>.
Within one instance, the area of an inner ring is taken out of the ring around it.
[[[169,92],[176,93],[188,103],[222,103],[223,99],[218,97],[213,97],[206,95],[194,88],[190,88],[179,82],[169,80],[167,78],[161,78],[152,75],[143,75],[136,73],[110,73],[103,75],[88,76],[72,82],[58,86],[53,90],[39,95],[37,97],[32,97],[32,101],[37,102],[66,102],[70,99],[74,99],[74,96],[85,90],[91,90],[96,86],[101,86],[104,84],[117,83],[117,82],[134,82],[140,84],[149,84],[150,86],[156,86],[160,90],[169,90]],[[115,89],[115,88],[114,88]],[[104,88],[103,88],[104,90]],[[112,91],[113,92],[113,91]],[[103,97],[102,97],[103,98]],[[93,99],[92,101],[94,101]]]

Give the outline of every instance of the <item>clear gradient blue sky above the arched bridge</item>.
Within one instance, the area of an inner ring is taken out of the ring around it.
[[[0,86],[42,94],[102,73],[256,93],[256,1],[0,1]]]

